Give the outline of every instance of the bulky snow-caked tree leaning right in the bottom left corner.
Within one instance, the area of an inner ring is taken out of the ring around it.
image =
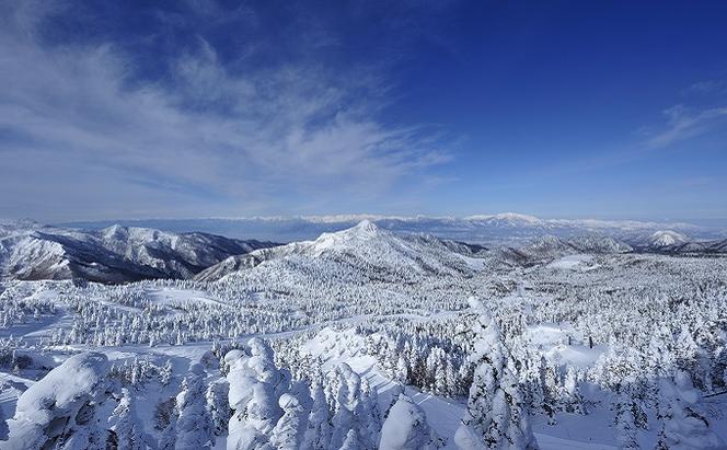
[[[102,426],[97,409],[107,397],[107,371],[106,356],[97,353],[71,356],[53,369],[18,400],[2,448],[105,448],[105,420]]]

